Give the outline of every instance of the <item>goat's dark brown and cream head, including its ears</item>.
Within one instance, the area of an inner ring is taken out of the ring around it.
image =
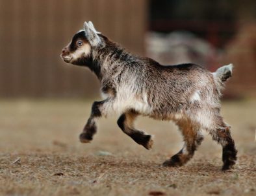
[[[91,21],[84,22],[84,29],[77,32],[71,42],[62,49],[60,55],[66,63],[86,65],[92,57],[93,50],[104,47],[103,36],[94,28]]]

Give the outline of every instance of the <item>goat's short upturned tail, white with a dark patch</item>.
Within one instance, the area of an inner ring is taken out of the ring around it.
[[[213,72],[213,78],[216,83],[216,87],[220,91],[224,88],[224,82],[232,76],[233,64],[224,65]]]

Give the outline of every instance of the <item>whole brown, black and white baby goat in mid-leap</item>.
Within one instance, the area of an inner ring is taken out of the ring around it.
[[[101,83],[104,100],[92,104],[92,112],[81,142],[88,143],[97,131],[96,119],[110,112],[120,114],[118,126],[133,140],[151,149],[151,135],[134,127],[138,115],[158,120],[173,120],[184,138],[184,146],[166,160],[164,166],[183,166],[203,140],[202,130],[222,145],[222,169],[237,160],[237,149],[230,126],[220,115],[220,96],[233,65],[209,72],[192,63],[163,66],[150,58],[127,52],[97,32],[92,22],[84,23],[62,50],[66,63],[88,67]]]

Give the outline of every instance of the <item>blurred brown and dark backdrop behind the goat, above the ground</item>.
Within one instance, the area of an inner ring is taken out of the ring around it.
[[[0,98],[95,98],[87,69],[60,59],[84,21],[160,63],[233,63],[225,97],[256,96],[256,1],[0,0]]]

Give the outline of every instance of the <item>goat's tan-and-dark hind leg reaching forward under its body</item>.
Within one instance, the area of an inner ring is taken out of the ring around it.
[[[179,153],[173,155],[170,159],[163,163],[163,166],[179,167],[183,166],[190,158],[193,157],[194,151],[203,141],[203,135],[199,131],[199,127],[190,122],[177,123],[181,133],[183,134],[184,146]]]

